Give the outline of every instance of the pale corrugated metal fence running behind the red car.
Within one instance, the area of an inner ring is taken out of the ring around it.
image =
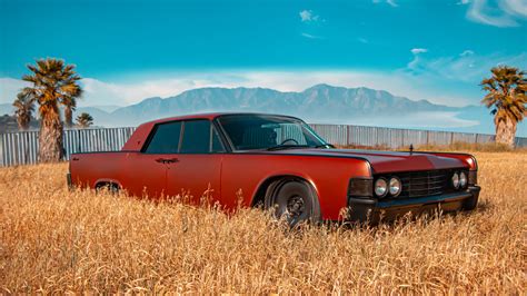
[[[310,125],[334,145],[382,146],[399,148],[454,142],[493,142],[493,135],[395,129],[348,125]],[[136,128],[72,129],[64,131],[66,159],[74,152],[116,151],[121,149]],[[0,167],[38,162],[38,131],[0,134]],[[516,138],[516,147],[527,147],[527,138]]]

